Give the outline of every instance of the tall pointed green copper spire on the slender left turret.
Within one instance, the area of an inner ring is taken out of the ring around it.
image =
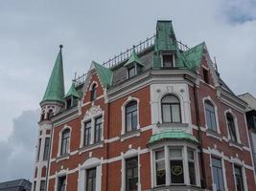
[[[62,46],[59,46],[59,47],[60,47],[60,50],[58,52],[55,66],[52,71],[50,80],[48,82],[48,85],[41,103],[45,101],[63,102],[65,90],[64,90],[63,64],[62,64],[62,53],[61,53]]]

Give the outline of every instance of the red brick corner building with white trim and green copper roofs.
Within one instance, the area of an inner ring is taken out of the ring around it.
[[[205,43],[171,21],[64,94],[61,48],[40,102],[34,190],[256,190],[246,103]]]

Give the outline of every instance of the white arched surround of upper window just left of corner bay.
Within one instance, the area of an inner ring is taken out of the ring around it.
[[[139,99],[137,97],[134,97],[134,96],[128,96],[128,99],[123,103],[123,105],[121,106],[121,113],[122,113],[122,130],[121,130],[121,135],[125,135],[127,132],[126,132],[126,107],[128,105],[128,103],[130,101],[136,101],[137,102],[137,130],[140,129],[140,115],[139,115],[139,112],[140,112],[140,108],[139,108]]]

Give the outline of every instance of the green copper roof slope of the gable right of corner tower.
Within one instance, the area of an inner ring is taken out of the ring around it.
[[[185,66],[192,70],[197,70],[201,64],[201,58],[203,54],[205,43],[202,42],[198,46],[191,48],[190,50],[181,53],[184,59]]]

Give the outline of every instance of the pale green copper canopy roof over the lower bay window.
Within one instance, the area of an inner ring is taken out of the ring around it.
[[[192,136],[191,134],[185,133],[183,130],[163,130],[159,133],[152,135],[150,139],[150,144],[158,142],[161,140],[188,140],[195,143],[198,143],[198,139]]]

